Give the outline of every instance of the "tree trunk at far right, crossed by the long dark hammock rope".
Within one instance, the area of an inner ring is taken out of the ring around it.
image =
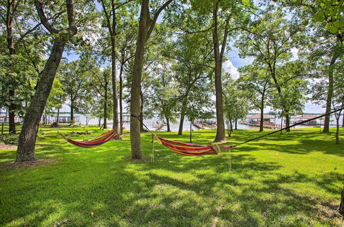
[[[327,89],[327,98],[326,98],[326,113],[330,113],[331,111],[331,102],[333,96],[333,70],[334,70],[334,63],[336,63],[336,59],[338,58],[338,54],[334,51],[334,54],[331,58],[329,69],[328,69],[328,89]],[[330,131],[330,115],[325,116],[325,121],[323,124],[323,132],[327,133]]]

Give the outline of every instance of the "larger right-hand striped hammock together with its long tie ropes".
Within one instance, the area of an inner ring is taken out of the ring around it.
[[[271,134],[274,133],[278,133],[279,131],[283,131],[286,129],[290,129],[292,127],[295,127],[297,125],[301,125],[304,124],[305,122],[309,122],[312,120],[316,120],[318,118],[323,118],[324,116],[330,115],[330,114],[334,114],[337,111],[341,111],[343,110],[344,107],[341,107],[339,109],[335,109],[334,111],[331,111],[329,113],[326,114],[322,114],[321,116],[316,116],[314,118],[310,118],[308,120],[303,120],[301,122],[297,122],[294,125],[290,125],[288,127],[284,127],[283,129],[279,129],[277,131],[272,131],[270,133],[267,133],[263,136],[258,136],[256,138],[252,138],[250,140],[246,140],[244,142],[240,142],[238,144],[234,144],[234,145],[225,145],[225,144],[209,144],[209,145],[200,145],[200,144],[187,144],[184,142],[176,142],[173,140],[167,140],[164,138],[161,138],[160,136],[157,136],[155,133],[153,133],[151,130],[149,130],[149,128],[144,125],[144,123],[142,122],[142,120],[140,119],[140,116],[135,116],[133,114],[131,114],[131,116],[133,116],[134,118],[137,118],[141,124],[152,134],[153,137],[155,137],[161,144],[163,144],[165,147],[168,147],[169,149],[171,149],[172,151],[175,151],[175,153],[180,153],[181,155],[188,155],[188,156],[197,156],[197,155],[217,155],[218,153],[222,152],[222,149],[224,151],[232,149],[233,147],[237,147],[241,144],[246,144],[247,142],[251,142],[253,140],[258,140],[260,138],[266,137],[266,136],[270,136]],[[217,149],[215,149],[215,147]],[[154,149],[154,147],[153,147]],[[230,158],[229,158],[229,170],[231,169],[231,163],[230,163]]]

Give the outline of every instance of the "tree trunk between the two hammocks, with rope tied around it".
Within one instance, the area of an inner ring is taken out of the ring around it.
[[[141,138],[140,138],[140,93],[141,76],[143,67],[144,44],[147,40],[147,25],[149,24],[149,0],[142,0],[140,23],[138,28],[138,41],[136,43],[135,60],[133,63],[133,75],[131,80],[130,99],[130,143],[131,158],[142,160]]]

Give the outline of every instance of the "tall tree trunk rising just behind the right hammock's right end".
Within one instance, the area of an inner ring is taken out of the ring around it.
[[[214,45],[214,56],[215,56],[215,96],[216,96],[216,137],[214,142],[221,142],[226,140],[224,131],[224,104],[222,100],[222,56],[219,52],[219,39],[217,33],[217,10],[218,2],[215,3],[213,9],[213,45]]]

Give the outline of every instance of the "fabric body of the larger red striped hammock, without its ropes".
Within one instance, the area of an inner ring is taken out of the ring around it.
[[[232,146],[215,144],[215,145],[200,145],[200,144],[186,144],[184,142],[176,142],[173,140],[166,140],[153,133],[153,136],[161,142],[164,146],[168,147],[175,153],[188,156],[197,155],[217,155],[219,152],[224,150],[229,150]],[[215,148],[216,147],[216,148]]]

